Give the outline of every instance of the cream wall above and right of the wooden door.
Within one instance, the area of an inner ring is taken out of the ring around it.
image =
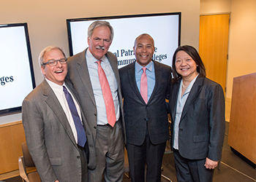
[[[233,78],[256,72],[256,1],[200,1],[200,15],[227,12],[231,12],[226,82],[226,98],[230,100]]]

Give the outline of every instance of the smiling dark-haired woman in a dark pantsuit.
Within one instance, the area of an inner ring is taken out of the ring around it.
[[[178,181],[212,181],[225,135],[224,93],[189,45],[174,52],[169,103]]]

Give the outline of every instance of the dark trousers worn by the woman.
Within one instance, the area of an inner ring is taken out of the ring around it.
[[[214,170],[204,166],[206,159],[192,160],[181,157],[178,150],[173,150],[178,182],[212,182]]]

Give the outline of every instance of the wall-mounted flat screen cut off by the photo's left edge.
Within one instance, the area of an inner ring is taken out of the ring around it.
[[[35,87],[27,23],[0,25],[0,116],[21,111]]]

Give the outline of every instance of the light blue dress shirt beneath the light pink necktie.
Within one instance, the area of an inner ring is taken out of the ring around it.
[[[154,84],[156,82],[155,73],[154,73],[154,63],[151,61],[148,63],[147,66],[145,66],[146,69],[146,75],[147,75],[147,81],[148,81],[148,100],[151,97],[151,94],[154,90]],[[143,66],[141,66],[137,61],[135,62],[135,79],[136,84],[138,87],[138,90],[140,91],[140,78],[143,74]]]

